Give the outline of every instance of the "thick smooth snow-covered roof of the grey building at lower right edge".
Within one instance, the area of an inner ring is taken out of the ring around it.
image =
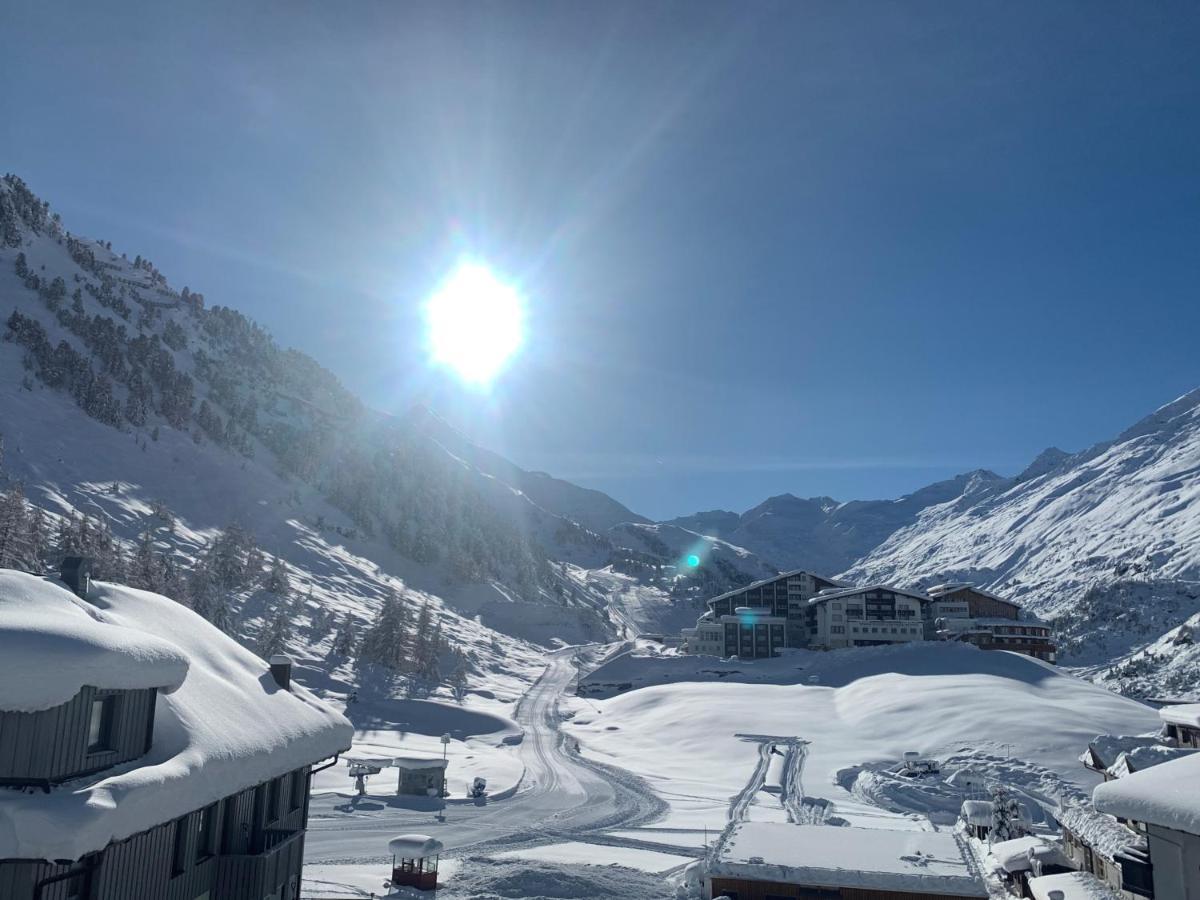
[[[1108,781],[1092,799],[1103,812],[1200,835],[1200,754]]]

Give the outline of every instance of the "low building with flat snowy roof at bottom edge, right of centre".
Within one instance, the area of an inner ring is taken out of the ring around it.
[[[947,832],[782,822],[730,826],[707,862],[704,898],[985,898],[970,851]]]

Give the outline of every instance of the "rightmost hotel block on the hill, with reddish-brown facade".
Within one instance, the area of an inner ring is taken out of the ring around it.
[[[1021,607],[967,583],[936,584],[923,608],[929,640],[962,641],[984,650],[1012,650],[1054,662],[1050,626],[1021,616]]]

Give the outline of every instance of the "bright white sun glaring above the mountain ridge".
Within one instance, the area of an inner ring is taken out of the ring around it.
[[[426,340],[438,365],[487,386],[524,341],[524,302],[480,263],[460,263],[425,304]]]

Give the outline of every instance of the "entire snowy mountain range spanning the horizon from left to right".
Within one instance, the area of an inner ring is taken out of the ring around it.
[[[428,409],[366,408],[235,310],[71,234],[13,176],[0,179],[0,490],[19,480],[131,548],[167,506],[179,524],[158,544],[181,558],[236,520],[318,600],[364,620],[396,576],[466,617],[454,629],[476,642],[509,636],[511,655],[509,638],[673,630],[706,596],[782,569],[953,578],[1055,617],[1066,658],[1098,679],[1200,694],[1200,391],[1013,478],[979,469],[895,500],[780,494],[652,522]]]

